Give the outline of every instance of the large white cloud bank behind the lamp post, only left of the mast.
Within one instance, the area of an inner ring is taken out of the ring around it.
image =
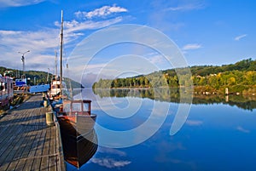
[[[0,31],[1,64],[6,67],[22,69],[21,54],[25,55],[26,70],[47,71],[51,67],[49,61],[54,61],[54,49],[58,47],[58,31],[45,29],[41,31]],[[50,55],[50,52],[53,55]],[[54,63],[54,62],[53,62]],[[1,66],[2,66],[1,65]],[[53,66],[53,65],[52,65]]]

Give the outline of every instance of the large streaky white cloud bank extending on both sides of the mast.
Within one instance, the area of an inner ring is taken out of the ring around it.
[[[65,48],[73,48],[73,46],[76,45],[75,41],[78,40],[79,37],[84,36],[83,31],[111,26],[121,20],[123,20],[122,17],[96,22],[79,22],[76,20],[65,21]],[[26,70],[47,71],[49,67],[51,68],[49,65],[52,65],[53,67],[55,49],[59,49],[60,46],[59,22],[55,22],[55,26],[58,28],[44,28],[38,31],[0,30],[1,66],[21,69],[20,54],[17,52],[30,50],[31,52],[26,54]]]

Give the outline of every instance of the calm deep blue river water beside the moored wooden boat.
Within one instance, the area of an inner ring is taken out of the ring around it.
[[[255,101],[193,101],[185,123],[171,135],[180,105],[177,100],[155,100],[152,94],[146,97],[129,90],[124,94],[109,90],[94,94],[84,89],[82,94],[84,99],[92,100],[96,123],[114,133],[96,127],[100,145],[95,156],[79,170],[256,170]],[[153,121],[147,123],[153,112]],[[146,130],[136,130],[143,124],[150,125]],[[155,133],[148,136],[151,127]],[[134,136],[126,135],[125,130],[131,129]],[[147,138],[138,143],[138,137]],[[68,164],[67,168],[76,170]]]

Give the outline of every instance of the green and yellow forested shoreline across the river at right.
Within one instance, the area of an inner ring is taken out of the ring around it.
[[[178,76],[176,70],[179,70]],[[100,79],[93,84],[93,88],[177,88],[192,86],[190,84],[193,83],[195,94],[224,94],[225,88],[229,88],[230,94],[256,93],[256,60],[241,60],[223,66],[191,66],[191,73],[183,68],[176,70],[154,71],[148,75],[113,80]]]

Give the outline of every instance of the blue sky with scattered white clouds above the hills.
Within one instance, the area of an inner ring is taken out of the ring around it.
[[[48,71],[49,68],[52,72],[55,49],[59,50],[60,46],[61,9],[66,58],[80,41],[95,31],[136,24],[152,27],[170,37],[189,66],[219,66],[255,59],[256,2],[253,0],[0,0],[0,66],[21,70],[18,52],[30,50],[25,54],[26,70]],[[131,48],[125,52],[128,49]],[[108,63],[111,58],[107,52],[110,50],[98,55],[87,72],[93,73],[93,69]],[[160,62],[159,56],[151,56],[150,61]],[[158,68],[168,66],[158,65]]]

